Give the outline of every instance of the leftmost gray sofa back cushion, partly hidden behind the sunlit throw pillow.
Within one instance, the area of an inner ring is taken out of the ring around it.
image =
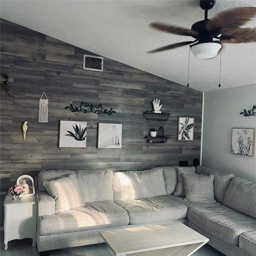
[[[75,171],[69,171],[69,170],[42,170],[38,173],[38,190],[39,191],[47,191],[43,182],[45,180],[55,180],[57,178],[68,176],[68,174],[75,173]]]

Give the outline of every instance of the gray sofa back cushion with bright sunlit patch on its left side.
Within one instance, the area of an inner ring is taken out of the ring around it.
[[[114,200],[135,200],[166,196],[163,169],[140,172],[114,172]]]

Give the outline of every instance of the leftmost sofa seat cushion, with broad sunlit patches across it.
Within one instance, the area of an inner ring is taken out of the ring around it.
[[[87,203],[54,215],[40,216],[39,234],[61,234],[106,227],[125,226],[129,223],[127,212],[113,201]]]

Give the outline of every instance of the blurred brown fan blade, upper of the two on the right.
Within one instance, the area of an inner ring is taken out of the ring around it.
[[[228,10],[218,14],[206,24],[210,32],[226,32],[242,26],[256,14],[256,7],[244,7]]]

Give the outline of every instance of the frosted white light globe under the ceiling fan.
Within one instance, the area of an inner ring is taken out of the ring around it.
[[[206,60],[216,57],[221,46],[220,42],[197,43],[190,50],[196,58]]]

